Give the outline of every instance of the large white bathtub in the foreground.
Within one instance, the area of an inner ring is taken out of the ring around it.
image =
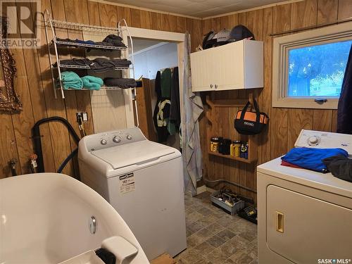
[[[92,216],[95,234],[89,230]],[[138,249],[126,263],[149,263],[125,221],[82,182],[58,173],[0,180],[0,264],[60,263],[113,236]]]

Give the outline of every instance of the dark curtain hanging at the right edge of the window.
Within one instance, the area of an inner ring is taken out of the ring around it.
[[[337,132],[352,134],[352,46],[342,82],[339,106],[337,107]]]

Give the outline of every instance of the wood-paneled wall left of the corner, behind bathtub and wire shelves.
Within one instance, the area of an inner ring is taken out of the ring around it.
[[[88,0],[42,0],[42,11],[49,10],[53,18],[75,23],[115,26],[121,18],[127,20],[132,27],[153,30],[191,33],[192,47],[195,49],[201,41],[201,20],[142,11],[110,4],[102,4]],[[34,23],[34,15],[32,15]],[[34,24],[33,24],[34,25]],[[81,34],[70,30],[58,30],[58,36],[81,38]],[[44,39],[42,30],[42,39]],[[51,37],[51,36],[49,36]],[[30,172],[28,157],[33,153],[31,128],[34,122],[54,115],[66,118],[79,134],[75,118],[76,112],[87,112],[89,122],[85,123],[87,134],[94,132],[92,120],[92,104],[87,91],[66,91],[66,99],[55,99],[51,84],[49,57],[47,47],[42,44],[39,49],[13,49],[13,56],[18,69],[15,78],[15,89],[23,101],[20,113],[0,113],[0,178],[11,175],[8,161],[18,160],[18,174]],[[72,51],[67,58],[82,56]],[[63,125],[56,122],[40,127],[44,166],[46,171],[55,172],[58,166],[77,146],[70,138]],[[69,163],[63,171],[65,174],[77,176],[77,161]]]

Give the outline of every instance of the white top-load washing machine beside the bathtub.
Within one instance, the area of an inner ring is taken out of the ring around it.
[[[82,182],[118,211],[149,260],[186,249],[180,151],[135,127],[83,137],[78,158]]]

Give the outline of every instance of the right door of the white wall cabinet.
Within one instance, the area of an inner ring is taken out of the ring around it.
[[[243,42],[220,46],[217,51],[215,70],[218,90],[244,88],[244,53]]]

